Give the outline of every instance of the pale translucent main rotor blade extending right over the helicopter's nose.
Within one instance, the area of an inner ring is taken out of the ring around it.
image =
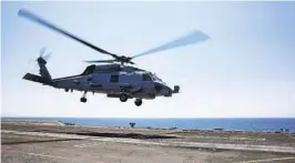
[[[135,54],[132,57],[132,59],[138,58],[138,57],[142,57],[142,55],[146,55],[146,54],[151,54],[151,53],[156,53],[156,52],[164,51],[164,50],[170,50],[170,49],[174,49],[174,48],[180,48],[180,47],[193,44],[196,42],[206,41],[208,39],[210,39],[208,35],[206,35],[205,33],[203,33],[199,30],[195,30],[195,31],[193,31],[186,35],[183,35],[179,39],[175,39],[171,42],[167,42],[167,43],[162,44],[160,47],[146,50],[142,53]]]

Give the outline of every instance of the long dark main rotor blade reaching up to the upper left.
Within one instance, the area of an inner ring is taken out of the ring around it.
[[[89,43],[89,42],[87,42],[87,41],[73,35],[73,34],[69,33],[68,31],[57,27],[55,24],[53,24],[53,23],[51,23],[51,22],[38,17],[37,14],[34,14],[34,13],[28,11],[28,10],[21,9],[19,11],[19,16],[22,16],[22,17],[24,17],[27,19],[30,19],[30,20],[32,20],[32,21],[34,21],[37,23],[40,23],[40,24],[42,24],[42,26],[44,26],[44,27],[47,27],[47,28],[49,28],[51,30],[54,30],[54,31],[57,31],[57,32],[59,32],[59,33],[61,33],[63,35],[67,35],[67,37],[73,39],[73,40],[75,40],[75,41],[78,41],[80,43],[83,43],[83,44],[85,44],[85,45],[88,45],[88,47],[90,47],[90,48],[92,48],[92,49],[94,49],[94,50],[96,50],[96,51],[99,51],[101,53],[112,55],[113,58],[118,58],[116,54],[113,54],[113,53],[110,53],[110,52],[108,52],[108,51],[105,51],[103,49],[100,49],[100,48],[98,48],[98,47],[95,47],[95,45],[93,45],[93,44],[91,44],[91,43]]]

